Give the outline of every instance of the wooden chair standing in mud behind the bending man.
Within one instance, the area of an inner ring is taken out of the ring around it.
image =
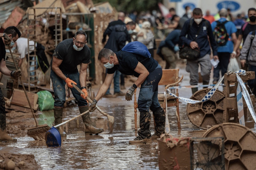
[[[164,85],[165,90],[169,87],[178,86],[181,80],[183,79],[183,75],[179,80],[179,69],[163,69],[162,79],[159,81],[158,85]],[[173,91],[176,96],[179,96],[178,89],[174,89]],[[181,129],[180,126],[180,112],[179,112],[179,99],[172,97],[171,95],[167,94],[167,107],[176,106],[176,116],[177,116],[177,124],[178,129]],[[164,112],[166,111],[166,100],[164,94],[159,94],[158,89],[158,101],[161,107],[164,108]],[[134,91],[134,123],[135,123],[135,130],[137,130],[137,99],[136,99],[136,90]]]

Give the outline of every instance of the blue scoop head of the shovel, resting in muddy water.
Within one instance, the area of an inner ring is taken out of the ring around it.
[[[60,147],[61,146],[61,136],[58,129],[52,127],[45,134],[45,142],[47,147]]]

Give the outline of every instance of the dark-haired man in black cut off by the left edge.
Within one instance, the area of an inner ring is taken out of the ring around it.
[[[20,70],[11,71],[7,68],[5,63],[5,46],[11,47],[15,44],[17,39],[20,37],[20,31],[14,27],[7,27],[4,33],[0,33],[0,72],[4,75],[9,75],[14,79],[21,77],[22,73]],[[5,113],[5,100],[3,92],[0,87],[0,141],[17,141],[17,139],[11,138],[6,132],[6,113]]]

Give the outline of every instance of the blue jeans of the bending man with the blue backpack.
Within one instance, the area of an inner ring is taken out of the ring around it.
[[[139,112],[156,111],[160,104],[158,102],[158,83],[162,78],[162,67],[158,64],[153,72],[150,72],[147,79],[141,84],[138,97]]]

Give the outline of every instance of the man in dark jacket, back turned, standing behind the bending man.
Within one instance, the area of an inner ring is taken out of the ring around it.
[[[128,32],[127,24],[124,23],[124,19],[125,13],[119,12],[118,20],[110,22],[108,24],[107,29],[103,33],[102,43],[105,43],[107,36],[109,37],[104,48],[109,48],[114,52],[118,52],[125,46],[126,41],[131,42],[131,36]],[[125,95],[120,89],[120,78],[121,87],[124,87],[124,78],[122,78],[122,75],[119,71],[116,71],[114,76],[114,96],[110,93],[109,87],[104,97],[115,97]]]

